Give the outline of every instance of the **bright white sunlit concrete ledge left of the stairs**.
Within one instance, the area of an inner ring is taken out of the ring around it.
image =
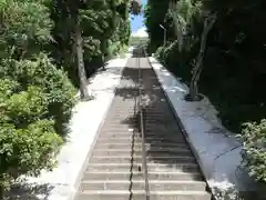
[[[22,191],[12,194],[21,200],[70,200],[73,199],[79,179],[86,166],[86,159],[98,129],[105,118],[120,83],[127,58],[109,61],[105,71],[99,71],[90,80],[89,91],[94,99],[79,102],[69,123],[68,142],[58,154],[58,167],[43,171],[38,178],[27,178]],[[79,94],[79,93],[78,93]],[[19,198],[18,198],[19,197]],[[12,197],[10,198],[12,199]]]

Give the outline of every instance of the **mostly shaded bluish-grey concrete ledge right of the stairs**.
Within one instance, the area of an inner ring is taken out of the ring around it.
[[[188,88],[156,59],[150,57],[149,60],[214,197],[254,190],[254,181],[239,168],[242,144],[222,126],[208,99],[204,98],[201,102],[185,101]]]

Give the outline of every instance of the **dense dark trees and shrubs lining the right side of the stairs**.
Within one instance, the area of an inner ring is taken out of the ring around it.
[[[149,0],[149,51],[209,98],[224,126],[242,133],[243,161],[266,182],[265,1]],[[163,47],[164,31],[167,42]]]

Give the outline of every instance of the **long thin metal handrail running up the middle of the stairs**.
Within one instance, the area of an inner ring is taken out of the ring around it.
[[[140,50],[140,49],[139,49]],[[145,130],[144,130],[144,114],[142,108],[142,79],[141,79],[141,52],[137,57],[139,67],[139,111],[140,111],[140,124],[141,124],[141,136],[142,136],[142,171],[145,181],[145,199],[150,200],[150,187],[147,178],[147,164],[146,164],[146,148],[145,148]]]

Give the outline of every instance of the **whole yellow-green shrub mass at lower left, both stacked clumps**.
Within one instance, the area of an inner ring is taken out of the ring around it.
[[[40,88],[22,90],[18,81],[0,80],[0,188],[20,174],[39,174],[54,164],[51,157],[62,139],[54,121],[44,119],[47,106]]]

